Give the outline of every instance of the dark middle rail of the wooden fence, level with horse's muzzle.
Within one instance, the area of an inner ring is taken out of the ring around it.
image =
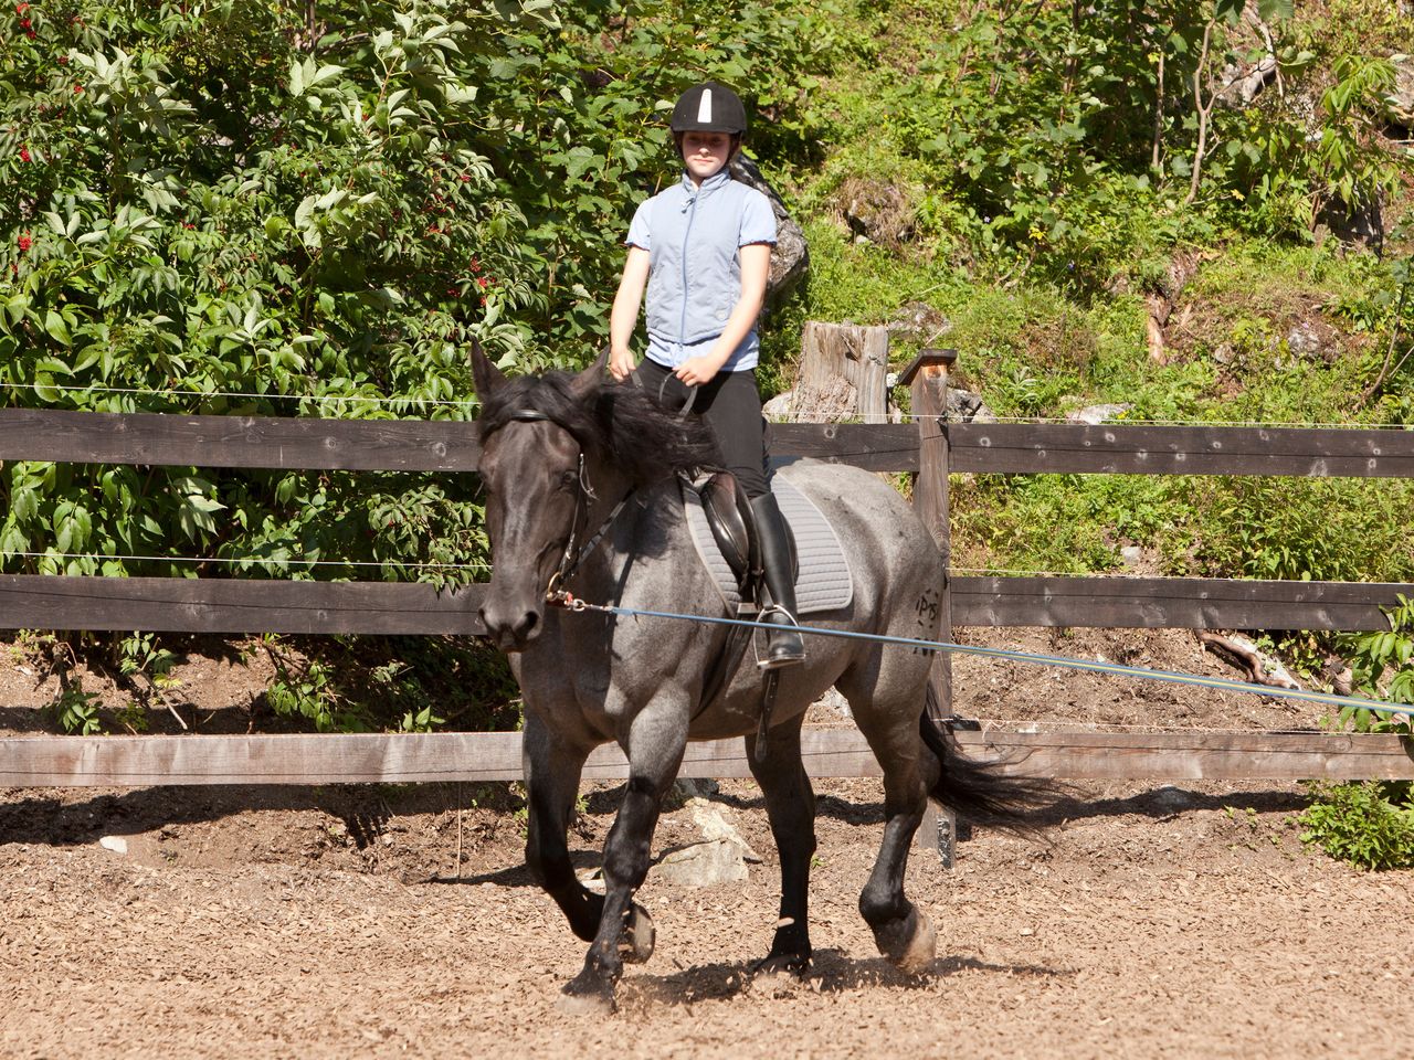
[[[485,585],[0,574],[0,629],[479,636]],[[950,579],[953,625],[1389,629],[1414,584],[1223,578]]]

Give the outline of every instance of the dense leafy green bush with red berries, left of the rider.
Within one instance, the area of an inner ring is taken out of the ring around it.
[[[7,8],[0,389],[92,411],[469,420],[472,338],[510,372],[595,352],[621,233],[674,177],[662,116],[686,83],[741,85],[768,165],[809,139],[833,14],[785,0]],[[4,466],[0,503],[11,572],[452,584],[488,558],[471,476],[25,461]],[[160,558],[130,558],[144,555]],[[329,681],[291,677],[274,700],[354,725],[311,705],[358,700]],[[385,698],[397,705],[378,724],[440,714]]]

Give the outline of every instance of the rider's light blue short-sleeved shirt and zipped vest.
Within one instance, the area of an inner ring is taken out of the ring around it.
[[[648,252],[648,356],[665,367],[711,351],[741,300],[741,247],[776,242],[771,199],[723,170],[683,179],[643,202],[629,225],[629,246]],[[756,328],[723,366],[756,366]]]

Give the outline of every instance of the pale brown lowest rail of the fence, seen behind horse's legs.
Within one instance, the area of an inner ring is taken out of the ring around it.
[[[1414,745],[1389,734],[959,732],[963,750],[1011,773],[1121,780],[1414,779]],[[854,729],[806,729],[816,777],[878,776]],[[740,739],[690,743],[684,777],[741,777]],[[585,780],[624,780],[614,746],[590,755]],[[519,732],[284,736],[7,736],[0,787],[331,784],[520,780]]]

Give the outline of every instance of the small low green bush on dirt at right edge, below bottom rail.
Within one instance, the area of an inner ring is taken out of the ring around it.
[[[1304,842],[1363,869],[1414,868],[1414,799],[1408,782],[1312,784],[1301,814]]]

